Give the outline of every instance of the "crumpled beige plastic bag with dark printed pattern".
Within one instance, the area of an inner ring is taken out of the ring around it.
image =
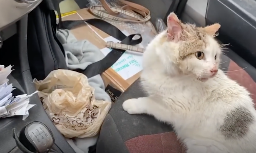
[[[84,138],[99,132],[111,102],[95,99],[86,75],[58,69],[45,80],[34,79],[34,84],[46,112],[62,135]]]

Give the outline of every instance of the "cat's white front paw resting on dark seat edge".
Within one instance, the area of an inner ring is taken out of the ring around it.
[[[128,99],[123,102],[123,109],[129,114],[142,114],[145,113],[143,101],[140,98]]]

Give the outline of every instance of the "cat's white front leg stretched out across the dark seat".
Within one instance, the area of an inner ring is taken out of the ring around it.
[[[172,122],[171,111],[151,97],[141,97],[125,100],[123,109],[129,114],[149,114],[164,122]]]

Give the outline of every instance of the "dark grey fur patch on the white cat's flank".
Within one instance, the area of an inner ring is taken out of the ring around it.
[[[245,107],[238,107],[227,114],[220,132],[226,139],[238,139],[247,134],[253,116]]]

